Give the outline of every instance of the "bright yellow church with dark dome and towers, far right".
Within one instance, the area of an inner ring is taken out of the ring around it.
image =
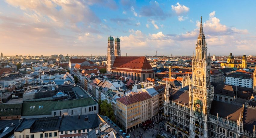
[[[234,56],[230,52],[227,56],[227,63],[220,63],[221,67],[237,67],[237,68],[247,68],[247,57],[244,54],[242,57],[242,62],[236,62]]]

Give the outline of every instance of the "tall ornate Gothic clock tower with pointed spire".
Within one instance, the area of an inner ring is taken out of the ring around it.
[[[211,57],[207,55],[207,42],[202,25],[192,57],[192,84],[189,85],[190,137],[208,137],[207,119],[214,97],[210,83]]]

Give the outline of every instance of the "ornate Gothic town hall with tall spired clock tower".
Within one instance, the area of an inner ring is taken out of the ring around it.
[[[163,113],[166,131],[181,138],[255,138],[255,86],[253,90],[211,83],[211,57],[207,49],[201,17],[192,56],[191,83],[178,89],[166,82]]]

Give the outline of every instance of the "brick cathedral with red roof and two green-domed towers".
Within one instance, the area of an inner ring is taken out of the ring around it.
[[[154,77],[154,70],[145,56],[121,56],[120,39],[108,37],[107,72],[145,81]]]

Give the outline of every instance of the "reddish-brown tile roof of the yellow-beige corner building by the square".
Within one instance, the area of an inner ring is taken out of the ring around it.
[[[135,95],[128,95],[122,98],[117,98],[117,101],[120,101],[124,105],[130,105],[150,98],[151,96],[147,92],[142,92]]]

